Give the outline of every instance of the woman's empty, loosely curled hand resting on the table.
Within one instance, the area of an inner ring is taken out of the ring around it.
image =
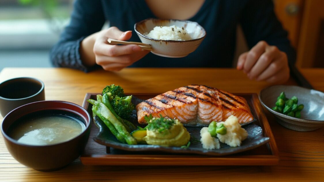
[[[286,53],[265,41],[260,41],[250,51],[241,54],[237,61],[237,69],[243,70],[249,79],[257,81],[282,84],[289,79]]]

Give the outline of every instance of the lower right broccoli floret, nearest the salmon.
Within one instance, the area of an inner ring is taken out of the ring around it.
[[[130,119],[132,111],[135,109],[135,106],[132,103],[132,96],[115,96],[111,101],[111,104],[117,115],[126,120]]]

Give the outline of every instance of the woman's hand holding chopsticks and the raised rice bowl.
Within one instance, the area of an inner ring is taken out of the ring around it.
[[[89,66],[96,63],[104,70],[119,71],[149,53],[138,45],[113,45],[107,42],[108,38],[127,41],[131,37],[132,31],[121,32],[117,27],[97,32],[82,41],[81,57]],[[89,50],[91,48],[92,52]]]

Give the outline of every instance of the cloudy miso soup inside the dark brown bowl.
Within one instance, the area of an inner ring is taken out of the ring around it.
[[[50,114],[19,119],[11,127],[9,136],[28,145],[52,145],[78,136],[85,128],[75,117]]]

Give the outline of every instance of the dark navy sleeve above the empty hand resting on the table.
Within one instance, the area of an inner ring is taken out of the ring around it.
[[[295,64],[296,52],[273,10],[272,0],[250,0],[243,9],[241,26],[249,47],[264,40],[285,52],[290,65]]]

